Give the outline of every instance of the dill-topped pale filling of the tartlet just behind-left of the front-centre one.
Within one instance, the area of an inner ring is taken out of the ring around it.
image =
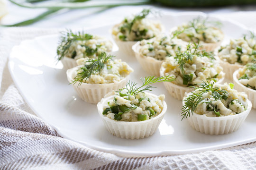
[[[79,59],[80,68],[73,72],[73,83],[105,84],[116,83],[128,76],[133,69],[120,59],[112,59],[105,52],[99,54],[97,59]]]

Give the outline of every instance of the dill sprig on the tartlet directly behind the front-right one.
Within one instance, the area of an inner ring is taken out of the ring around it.
[[[199,57],[208,57],[210,59],[215,59],[212,52],[206,52],[205,50],[201,50],[202,46],[198,43],[188,42],[186,51],[175,51],[176,56],[174,59],[178,62],[178,67],[181,69],[182,75],[184,76],[184,67],[185,64],[192,61],[194,55]]]

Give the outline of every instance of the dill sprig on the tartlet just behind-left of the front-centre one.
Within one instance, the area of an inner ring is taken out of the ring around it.
[[[110,59],[115,56],[107,55],[106,52],[101,51],[96,59],[90,58],[86,61],[86,64],[79,68],[77,75],[73,78],[71,84],[79,82],[78,85],[81,85],[83,80],[84,82],[91,77],[91,75],[96,72],[101,72],[101,69],[108,63]]]

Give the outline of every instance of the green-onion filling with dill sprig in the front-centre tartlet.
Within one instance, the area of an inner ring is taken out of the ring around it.
[[[103,115],[110,119],[120,121],[143,121],[156,117],[164,109],[165,95],[159,96],[145,93],[154,88],[151,84],[157,82],[173,81],[172,76],[146,76],[141,78],[142,85],[129,81],[126,87],[116,91],[113,99],[110,99],[103,106]]]

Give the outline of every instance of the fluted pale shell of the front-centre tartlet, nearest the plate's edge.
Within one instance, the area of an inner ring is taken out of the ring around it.
[[[147,94],[157,97],[155,94]],[[97,105],[100,117],[105,127],[112,135],[126,139],[139,139],[151,136],[155,133],[167,110],[165,101],[163,102],[164,107],[162,112],[155,118],[137,122],[126,122],[110,119],[106,115],[102,115],[103,106],[106,105],[108,100],[113,99],[114,96],[115,95],[106,95],[105,98],[103,98]]]

